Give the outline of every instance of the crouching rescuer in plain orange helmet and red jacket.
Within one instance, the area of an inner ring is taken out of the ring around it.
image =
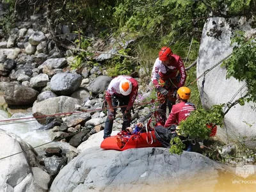
[[[168,119],[166,120],[164,127],[170,127],[171,125],[179,125],[182,120],[186,120],[191,111],[195,111],[196,107],[193,103],[188,102],[191,91],[188,87],[182,86],[177,91],[178,104],[173,105],[172,111]]]

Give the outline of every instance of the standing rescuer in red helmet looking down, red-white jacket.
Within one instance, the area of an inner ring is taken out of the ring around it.
[[[170,47],[162,47],[154,63],[151,81],[157,88],[157,99],[159,99],[157,111],[163,121],[166,120],[166,107],[168,106],[169,112],[172,110],[177,100],[177,90],[184,86],[186,76],[180,56],[173,54]]]

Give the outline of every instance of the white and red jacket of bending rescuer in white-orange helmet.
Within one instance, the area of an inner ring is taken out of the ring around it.
[[[109,83],[108,89],[106,91],[106,100],[108,104],[111,104],[111,95],[115,94],[117,96],[122,96],[119,90],[119,84],[123,79],[128,79],[132,83],[132,92],[129,95],[129,103],[127,110],[132,108],[132,105],[138,95],[138,82],[136,79],[130,76],[117,76]]]

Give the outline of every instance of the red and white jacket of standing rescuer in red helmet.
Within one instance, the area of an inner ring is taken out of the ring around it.
[[[186,81],[186,71],[183,64],[183,61],[181,60],[180,56],[177,56],[176,54],[172,54],[172,65],[166,67],[162,61],[159,60],[159,58],[156,59],[154,63],[154,67],[151,74],[151,81],[152,83],[158,87],[160,86],[158,83],[158,76],[160,76],[162,79],[175,79],[180,74],[180,81],[179,84],[177,84],[177,88],[180,88],[180,86],[184,86]]]

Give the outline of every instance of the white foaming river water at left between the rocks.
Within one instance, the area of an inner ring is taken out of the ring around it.
[[[31,116],[33,116],[31,113],[15,113],[12,115],[12,117],[8,118],[8,114],[5,111],[0,110],[0,120],[25,118]],[[19,123],[13,124],[14,122]],[[32,147],[36,147],[37,145],[41,145],[43,143],[51,141],[50,131],[36,130],[39,127],[42,127],[42,125],[39,124],[35,120],[35,118],[29,118],[27,120],[0,122],[0,129],[17,134],[17,136],[20,136],[22,140],[29,143]]]

